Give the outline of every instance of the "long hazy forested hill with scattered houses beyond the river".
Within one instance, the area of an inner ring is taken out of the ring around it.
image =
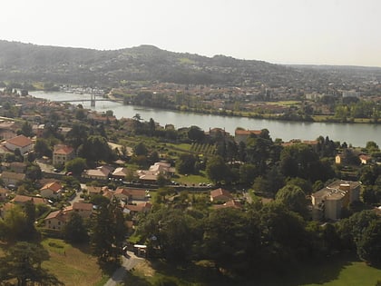
[[[332,82],[331,77],[327,69],[239,60],[224,55],[172,53],[151,45],[98,51],[0,41],[0,82],[117,86],[122,81],[159,81],[298,87],[307,83],[313,86],[321,80]],[[350,82],[353,83],[353,78]]]

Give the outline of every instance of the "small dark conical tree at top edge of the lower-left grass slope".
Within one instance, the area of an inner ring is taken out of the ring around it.
[[[87,242],[88,238],[82,216],[78,212],[72,212],[64,225],[64,239],[67,242],[83,243]]]

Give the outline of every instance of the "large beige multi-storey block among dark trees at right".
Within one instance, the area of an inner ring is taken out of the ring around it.
[[[360,182],[337,180],[311,194],[312,216],[315,220],[336,221],[350,202],[360,201]]]

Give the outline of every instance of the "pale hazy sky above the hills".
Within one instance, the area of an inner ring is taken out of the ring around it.
[[[0,39],[381,66],[380,0],[4,0]]]

